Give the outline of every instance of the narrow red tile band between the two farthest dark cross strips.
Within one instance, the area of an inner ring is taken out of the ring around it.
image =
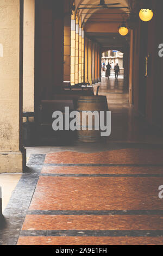
[[[137,166],[43,166],[41,173],[51,174],[163,174],[163,167]]]

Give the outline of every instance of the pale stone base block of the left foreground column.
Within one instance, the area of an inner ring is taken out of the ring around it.
[[[22,173],[26,169],[26,150],[0,152],[0,173]]]

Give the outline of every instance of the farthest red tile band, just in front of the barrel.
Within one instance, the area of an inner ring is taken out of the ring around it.
[[[163,163],[161,149],[119,149],[99,153],[59,152],[46,155],[45,163]]]

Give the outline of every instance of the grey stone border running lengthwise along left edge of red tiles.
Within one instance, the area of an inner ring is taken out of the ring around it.
[[[40,161],[37,166],[28,166],[27,173],[22,173],[21,179],[18,181],[3,212],[3,223],[0,227],[0,245],[16,245],[17,243],[24,218],[39,180],[42,169],[41,163],[44,162],[45,155],[41,155],[41,158],[39,157],[37,160]],[[31,155],[29,163],[34,162],[36,162],[34,155]]]

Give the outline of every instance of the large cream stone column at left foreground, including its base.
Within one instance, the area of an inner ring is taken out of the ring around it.
[[[0,173],[22,172],[25,159],[21,152],[22,3],[20,0],[0,1],[0,44],[3,45],[0,57]]]

